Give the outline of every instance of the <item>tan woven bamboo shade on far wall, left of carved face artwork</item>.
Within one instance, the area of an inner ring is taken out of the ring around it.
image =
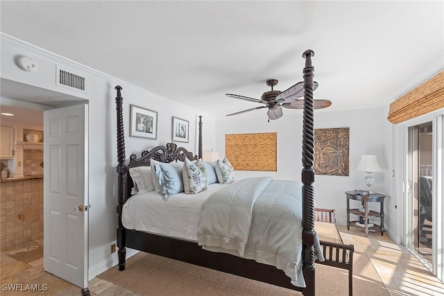
[[[225,134],[225,157],[237,171],[278,171],[278,133]]]

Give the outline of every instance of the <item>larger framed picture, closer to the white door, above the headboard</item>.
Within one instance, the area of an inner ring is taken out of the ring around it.
[[[157,112],[130,105],[130,137],[157,139]]]

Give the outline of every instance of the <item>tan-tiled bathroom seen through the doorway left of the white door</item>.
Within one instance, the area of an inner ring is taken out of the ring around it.
[[[43,112],[5,105],[0,110],[2,129],[12,130],[7,135],[12,156],[1,159],[1,201],[8,202],[0,223],[8,234],[1,250],[8,251],[43,242]]]

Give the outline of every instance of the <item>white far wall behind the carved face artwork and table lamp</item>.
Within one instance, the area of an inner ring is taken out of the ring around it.
[[[244,114],[241,114],[229,117],[223,121],[217,121],[216,150],[222,158],[225,154],[225,134],[278,132],[278,171],[236,171],[235,175],[237,178],[271,175],[276,179],[300,180],[302,169],[302,111],[289,112],[289,110],[284,110],[282,118],[270,122],[266,119],[266,112],[262,111],[254,111],[257,116],[243,116]],[[315,128],[350,128],[350,175],[348,177],[315,175],[314,182],[316,207],[336,209],[338,223],[345,225],[345,191],[366,189],[364,184],[366,173],[352,170],[359,162],[361,155],[373,154],[377,156],[379,164],[384,171],[382,173],[373,173],[375,184],[373,184],[372,190],[391,195],[391,182],[388,182],[388,180],[391,180],[391,155],[387,155],[391,150],[391,146],[386,141],[388,137],[386,132],[391,134],[391,130],[389,130],[390,123],[386,119],[386,108],[336,112],[330,112],[328,109],[316,110],[314,116]],[[357,203],[359,204],[359,202]],[[390,196],[386,198],[384,204],[387,211],[388,207],[391,207]],[[379,204],[370,203],[369,207],[379,211]],[[386,213],[384,226],[390,229],[397,225],[396,220],[387,219],[389,215],[389,213]],[[379,220],[377,220],[377,223],[379,224]]]

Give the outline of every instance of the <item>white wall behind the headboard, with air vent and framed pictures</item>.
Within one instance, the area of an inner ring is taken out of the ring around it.
[[[53,53],[38,49],[20,40],[1,36],[1,78],[27,85],[51,89],[60,94],[80,96],[89,103],[89,279],[117,264],[117,252],[110,254],[110,245],[116,241],[117,229],[117,145],[116,104],[114,87],[123,87],[123,122],[126,134],[126,158],[131,153],[171,142],[171,116],[189,121],[189,143],[178,143],[197,154],[196,124],[198,115],[203,115],[205,146],[214,143],[215,119],[185,105],[173,103],[133,85],[94,71],[81,64]],[[30,55],[38,63],[34,72],[22,71],[14,58]],[[83,71],[88,80],[87,94],[79,94],[56,86],[56,64]],[[129,137],[130,104],[157,111],[157,140]],[[128,250],[128,254],[131,254]]]

